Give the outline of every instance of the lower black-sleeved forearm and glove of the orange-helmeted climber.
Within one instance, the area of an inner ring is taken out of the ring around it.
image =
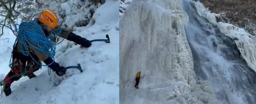
[[[53,63],[52,63],[53,62]],[[54,62],[52,58],[48,57],[46,60],[44,60],[44,63],[48,65],[58,76],[62,76],[66,74],[66,70],[64,67],[60,67],[60,65],[57,62]],[[51,64],[52,63],[52,64]],[[49,65],[50,64],[50,65]]]

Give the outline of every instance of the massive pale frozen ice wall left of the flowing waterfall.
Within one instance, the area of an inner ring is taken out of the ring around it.
[[[120,21],[121,104],[219,103],[212,84],[196,80],[180,0],[134,1]]]

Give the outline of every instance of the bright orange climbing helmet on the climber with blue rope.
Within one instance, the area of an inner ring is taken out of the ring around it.
[[[45,10],[42,11],[41,15],[38,18],[38,21],[52,28],[54,28],[58,24],[57,15],[49,8],[46,8]]]

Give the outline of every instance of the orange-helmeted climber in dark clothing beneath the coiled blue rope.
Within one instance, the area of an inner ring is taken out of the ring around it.
[[[40,13],[40,16],[35,19],[34,24],[37,24],[39,28],[42,28],[41,33],[42,35],[45,35],[47,41],[49,34],[54,33],[54,30],[59,28],[57,26],[57,21],[58,18],[56,14],[50,10],[50,9],[45,9],[42,10]],[[39,25],[38,25],[39,24]],[[60,28],[61,30],[59,32],[60,37],[65,38],[67,40],[73,41],[76,44],[80,44],[82,47],[90,47],[91,42],[87,40],[86,38],[82,38],[81,36],[78,36],[74,34],[73,32],[70,32],[66,28]],[[20,31],[20,28],[19,28]],[[36,34],[32,34],[36,35]],[[17,36],[18,37],[18,36]],[[43,38],[44,38],[43,37]],[[41,68],[41,61],[42,60],[49,68],[51,68],[58,76],[62,76],[65,74],[66,70],[64,67],[60,66],[57,62],[55,62],[48,54],[42,52],[41,50],[38,50],[38,48],[41,48],[43,46],[40,46],[41,44],[35,44],[31,41],[29,42],[23,42],[24,40],[17,40],[17,42],[14,44],[14,48],[12,51],[12,62],[9,65],[11,70],[10,72],[5,76],[4,81],[5,81],[5,87],[4,87],[4,93],[6,96],[9,96],[11,94],[11,84],[14,81],[19,80],[22,75],[28,76],[28,78],[34,78],[36,75],[33,73],[39,68]],[[35,40],[38,41],[38,40]],[[22,43],[23,42],[23,43]],[[33,45],[33,46],[28,46]],[[44,45],[44,44],[43,44]],[[27,51],[29,55],[24,55],[20,49],[24,49],[24,47],[27,46]],[[38,47],[37,49],[35,47]],[[49,49],[46,49],[49,50]],[[39,63],[39,64],[38,64]],[[22,75],[20,73],[23,73]],[[14,77],[13,77],[14,76]]]

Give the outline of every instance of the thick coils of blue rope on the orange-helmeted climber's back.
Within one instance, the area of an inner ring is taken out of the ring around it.
[[[44,54],[47,54],[50,58],[53,58],[54,60],[56,44],[54,44],[52,40],[49,40],[49,38],[52,37],[52,33],[54,33],[55,35],[59,35],[61,33],[61,30],[62,28],[52,30],[49,36],[46,37],[44,34],[44,31],[42,30],[42,27],[36,21],[22,22],[19,25],[18,36],[17,36],[20,42],[19,51],[25,56],[30,56],[32,60],[37,64],[39,63],[36,60],[34,60],[34,58],[29,53],[29,47],[39,50]],[[39,64],[39,65],[47,66],[42,64]]]

